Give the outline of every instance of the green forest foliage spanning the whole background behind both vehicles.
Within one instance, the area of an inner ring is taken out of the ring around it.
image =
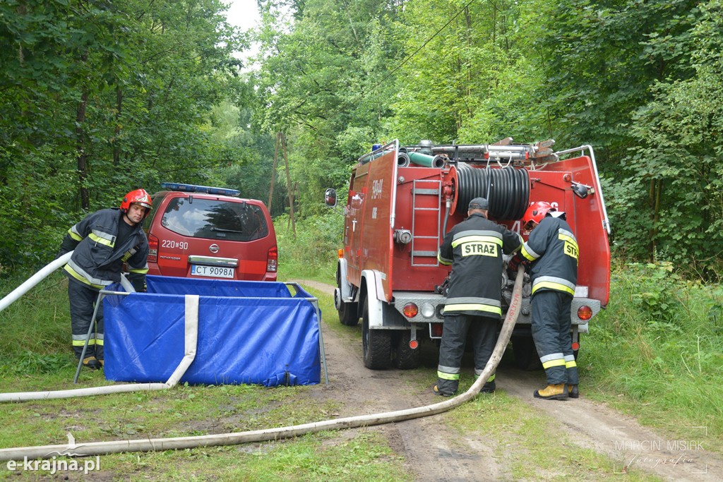
[[[1,265],[138,186],[315,218],[372,144],[513,137],[595,147],[617,256],[720,276],[721,0],[257,5],[241,33],[220,0],[0,4]]]

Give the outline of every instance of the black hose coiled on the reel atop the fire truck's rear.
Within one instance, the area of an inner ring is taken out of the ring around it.
[[[530,178],[526,169],[473,168],[457,164],[457,206],[466,209],[475,197],[489,201],[489,216],[497,220],[517,220],[529,205]]]

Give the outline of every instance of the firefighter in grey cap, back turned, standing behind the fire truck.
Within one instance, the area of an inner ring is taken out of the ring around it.
[[[455,225],[437,252],[441,264],[452,272],[445,302],[445,324],[437,366],[435,395],[455,395],[467,333],[471,332],[474,374],[482,374],[497,343],[497,324],[502,317],[502,252],[512,254],[522,237],[487,219],[484,197],[472,199],[466,220]],[[480,392],[495,391],[495,374]]]

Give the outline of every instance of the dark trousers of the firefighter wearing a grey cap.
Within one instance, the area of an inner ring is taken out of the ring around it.
[[[468,333],[471,335],[474,352],[474,373],[479,376],[495,350],[497,319],[469,314],[445,315],[440,362],[437,366],[437,390],[442,393],[457,392]],[[489,379],[494,379],[494,375]]]

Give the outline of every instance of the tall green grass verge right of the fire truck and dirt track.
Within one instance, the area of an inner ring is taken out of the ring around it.
[[[629,264],[578,360],[586,394],[671,440],[723,453],[723,288],[670,264]]]

